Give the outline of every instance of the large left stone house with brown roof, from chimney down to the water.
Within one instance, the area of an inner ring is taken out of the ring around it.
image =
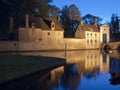
[[[26,15],[17,30],[13,30],[15,40],[27,43],[36,42],[41,48],[63,47],[64,30],[60,18],[38,18]],[[59,45],[59,46],[58,46]],[[35,46],[35,47],[39,47]]]

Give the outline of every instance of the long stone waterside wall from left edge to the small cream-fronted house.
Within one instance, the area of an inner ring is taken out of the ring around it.
[[[59,35],[59,33],[56,35]],[[45,39],[42,38],[41,41],[0,41],[0,51],[85,50],[85,49],[94,49],[94,47],[86,48],[85,39],[76,38],[53,39],[51,36],[51,38],[50,37]]]

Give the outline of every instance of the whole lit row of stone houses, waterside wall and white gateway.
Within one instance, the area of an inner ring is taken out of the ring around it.
[[[64,38],[64,29],[60,17],[47,19],[25,16],[20,26],[15,30],[14,20],[10,18],[10,32],[14,41],[1,41],[0,51],[39,51],[39,50],[85,50],[100,49],[103,42],[109,42],[109,26],[97,27],[80,24],[75,32],[75,38]]]

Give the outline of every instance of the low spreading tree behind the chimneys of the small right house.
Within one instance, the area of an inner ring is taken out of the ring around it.
[[[91,15],[91,14],[86,14],[85,16],[82,17],[83,23],[85,23],[85,24],[94,24],[95,18],[97,19],[97,24],[99,26],[101,24],[102,18]]]

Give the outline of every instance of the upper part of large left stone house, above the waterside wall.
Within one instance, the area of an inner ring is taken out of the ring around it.
[[[16,39],[18,41],[42,41],[54,38],[54,36],[63,38],[63,31],[59,17],[49,20],[26,15],[25,22],[23,21],[17,30]]]

